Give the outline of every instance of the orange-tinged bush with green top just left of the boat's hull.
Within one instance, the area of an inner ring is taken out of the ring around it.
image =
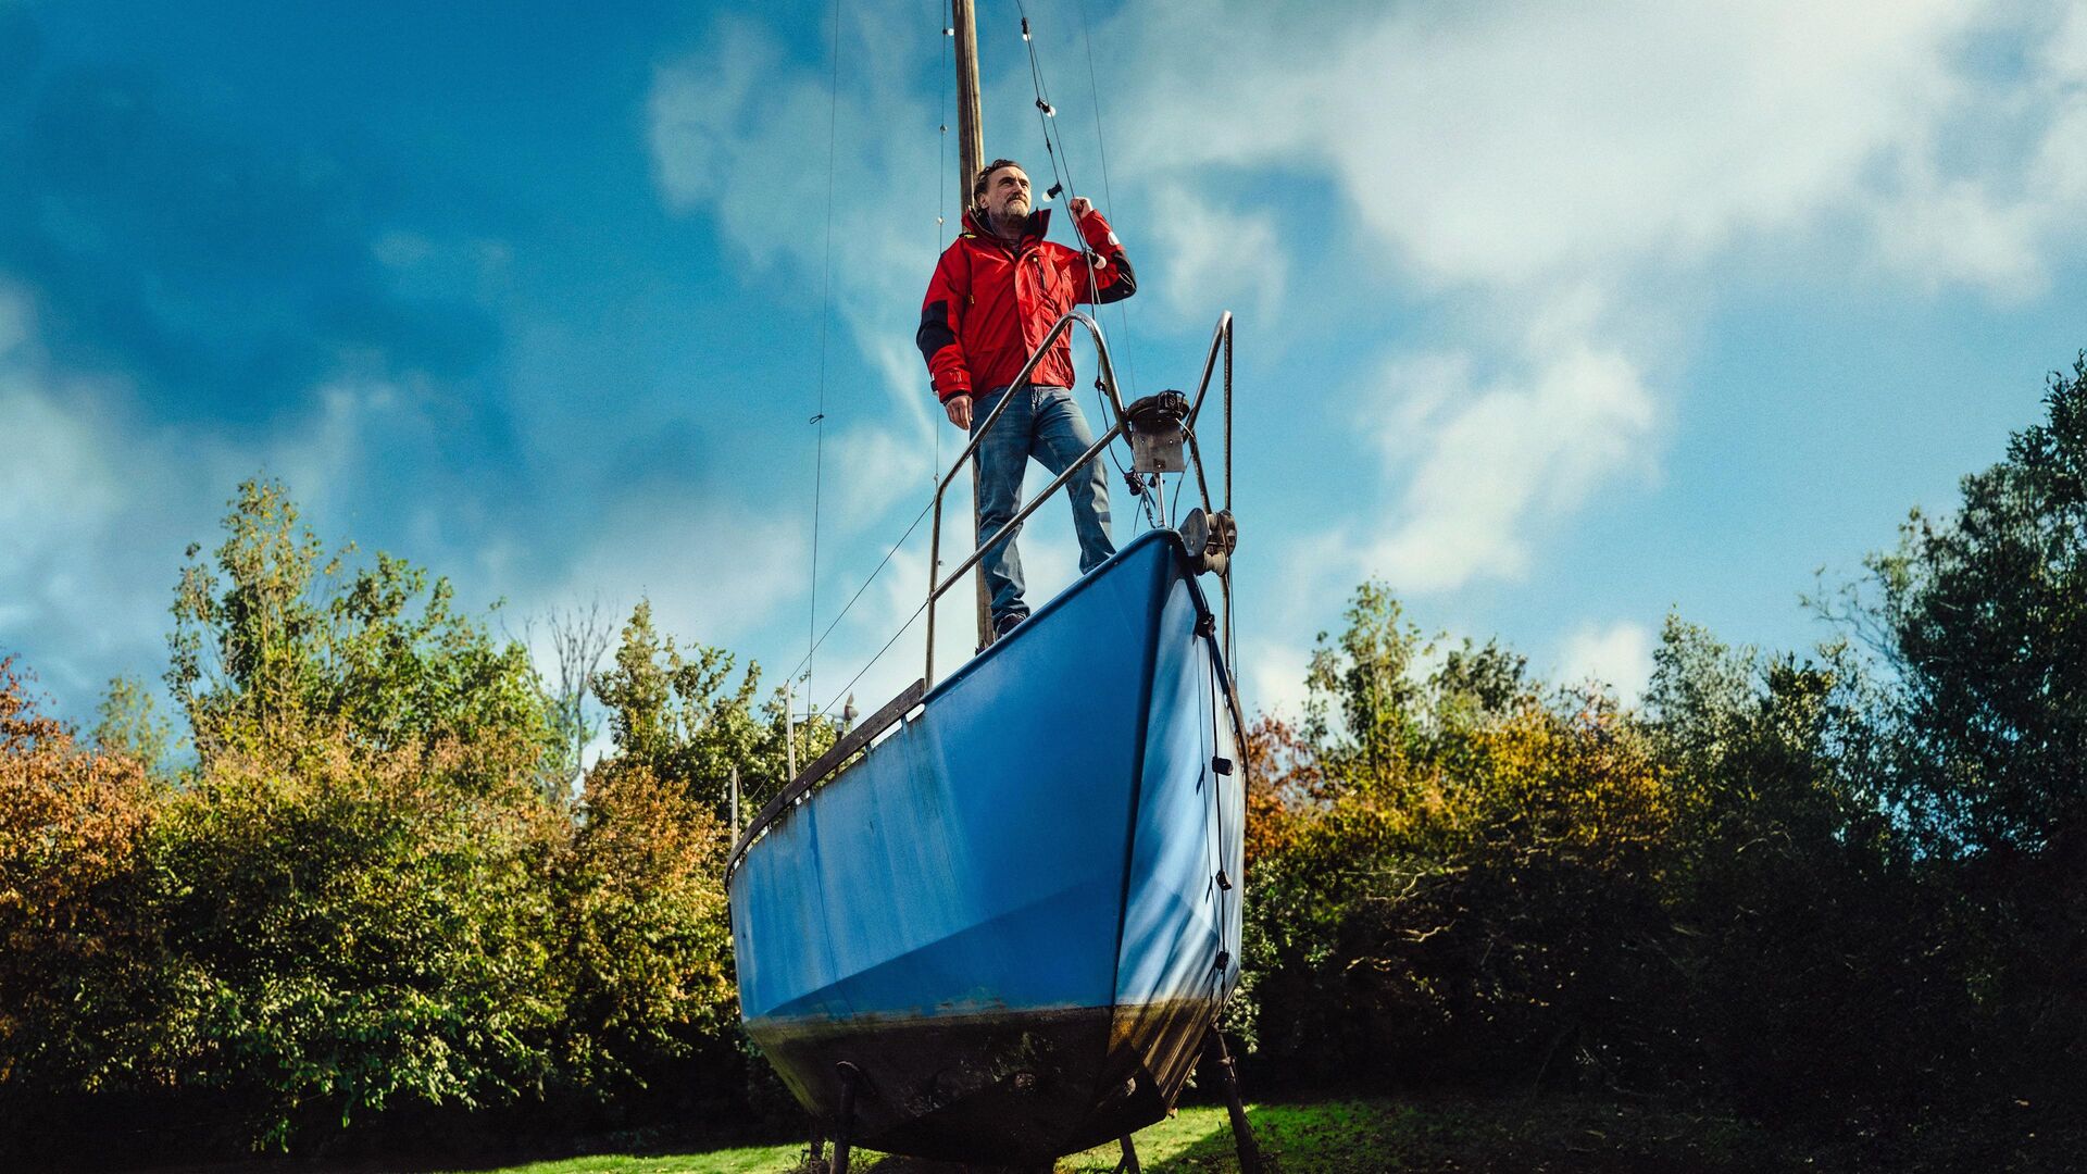
[[[741,821],[837,735],[831,721],[789,723],[776,691],[755,710],[760,668],[737,683],[720,648],[680,648],[641,602],[597,681],[616,754],[586,779],[570,875],[568,953],[576,969],[574,1070],[597,1090],[682,1084],[770,1116],[776,1090],[737,1026],[724,856],[730,779]],[[691,1063],[703,1072],[693,1074]],[[745,1109],[743,1109],[745,1111]]]

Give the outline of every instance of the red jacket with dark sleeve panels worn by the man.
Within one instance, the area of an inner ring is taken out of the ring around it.
[[[1046,228],[1050,209],[1033,213],[1021,244],[1010,246],[979,228],[970,211],[964,213],[964,234],[935,265],[920,303],[920,332],[914,334],[937,399],[1006,386],[1064,311],[1083,301],[1123,301],[1137,290],[1131,261],[1102,213],[1092,211],[1079,221],[1094,251],[1092,280],[1087,259],[1044,240]],[[1037,359],[1029,382],[1073,386],[1071,332]]]

